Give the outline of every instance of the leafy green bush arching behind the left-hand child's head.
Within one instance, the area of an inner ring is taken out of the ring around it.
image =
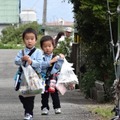
[[[2,30],[1,42],[3,44],[22,44],[22,33],[27,27],[32,27],[39,33],[41,26],[37,22],[21,24],[19,26],[8,26]]]

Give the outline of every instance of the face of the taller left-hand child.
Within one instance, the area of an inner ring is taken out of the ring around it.
[[[27,48],[31,49],[36,44],[36,38],[33,33],[27,33],[24,37],[24,44]]]

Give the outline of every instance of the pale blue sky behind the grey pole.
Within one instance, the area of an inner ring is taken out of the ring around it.
[[[42,23],[43,16],[43,1],[44,0],[21,0],[21,9],[35,10],[37,13],[37,20]],[[68,0],[47,0],[47,22],[57,21],[63,19],[65,21],[73,22],[73,5],[68,3]]]

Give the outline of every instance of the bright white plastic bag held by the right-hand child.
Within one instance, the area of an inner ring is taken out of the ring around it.
[[[78,84],[78,78],[74,73],[73,64],[67,62],[64,58],[64,63],[62,65],[60,74],[58,76],[58,81],[56,84],[56,88],[60,91],[62,95],[69,89],[74,89],[75,84]]]

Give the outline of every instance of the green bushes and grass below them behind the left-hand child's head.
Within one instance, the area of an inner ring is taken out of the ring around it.
[[[38,32],[38,42],[41,37],[41,25],[37,22],[32,22],[28,24],[21,24],[19,26],[8,26],[2,30],[2,36],[0,36],[0,48],[22,48],[23,40],[22,33],[27,27],[32,27]],[[37,44],[39,46],[39,44]]]

